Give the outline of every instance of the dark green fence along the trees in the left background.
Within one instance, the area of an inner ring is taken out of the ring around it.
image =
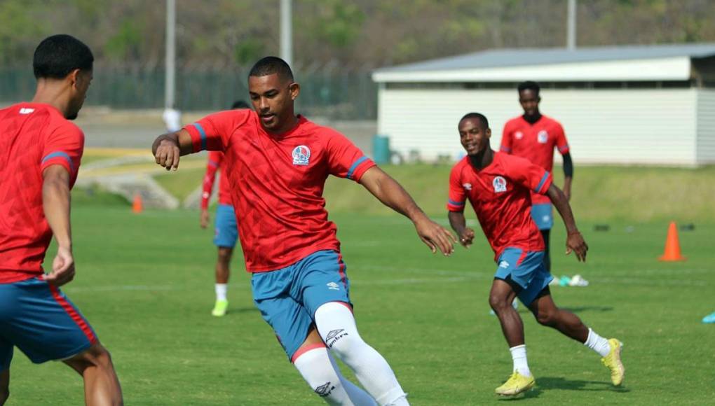
[[[241,98],[248,101],[247,68],[179,68],[177,108],[206,111],[229,108]],[[370,71],[337,68],[296,72],[301,84],[297,111],[336,120],[373,120],[377,117],[378,90]],[[0,101],[29,100],[35,83],[31,68],[0,68]],[[164,69],[161,66],[100,66],[87,104],[112,108],[162,108]]]

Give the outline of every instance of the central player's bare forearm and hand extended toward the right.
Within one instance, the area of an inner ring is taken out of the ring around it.
[[[373,166],[360,178],[360,184],[373,193],[373,196],[384,205],[412,220],[420,239],[433,253],[436,253],[438,249],[444,255],[454,252],[454,243],[457,242],[455,236],[430,220],[415,203],[412,196],[385,171]]]

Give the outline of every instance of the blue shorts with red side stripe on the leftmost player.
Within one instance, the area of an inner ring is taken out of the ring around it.
[[[34,363],[64,360],[97,342],[92,326],[58,288],[41,278],[0,283],[0,371],[13,347]]]

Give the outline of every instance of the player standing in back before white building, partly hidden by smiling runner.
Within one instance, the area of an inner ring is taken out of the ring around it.
[[[519,103],[524,113],[512,118],[504,126],[501,138],[501,152],[526,158],[546,171],[552,172],[553,150],[556,148],[563,156],[563,194],[571,199],[571,180],[573,179],[573,161],[568,149],[566,134],[561,123],[551,117],[543,116],[538,109],[541,102],[538,83],[526,81],[518,86]],[[531,193],[531,217],[541,230],[544,245],[544,265],[551,272],[551,253],[549,240],[553,227],[553,208],[548,197]]]

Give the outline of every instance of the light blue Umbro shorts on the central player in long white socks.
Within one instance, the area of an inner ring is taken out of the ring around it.
[[[350,305],[350,280],[342,255],[321,250],[286,268],[254,273],[253,301],[288,358],[307,338],[315,310],[330,302]]]

